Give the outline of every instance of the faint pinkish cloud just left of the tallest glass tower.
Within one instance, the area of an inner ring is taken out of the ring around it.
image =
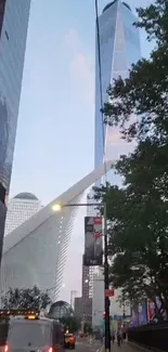
[[[69,71],[73,80],[76,80],[82,95],[91,103],[94,101],[94,68],[92,57],[83,48],[78,31],[70,29],[65,36],[65,44],[70,52]]]

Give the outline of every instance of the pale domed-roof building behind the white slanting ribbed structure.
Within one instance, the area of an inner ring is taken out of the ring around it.
[[[31,193],[20,193],[8,205],[5,231],[8,235],[42,208],[40,200]]]

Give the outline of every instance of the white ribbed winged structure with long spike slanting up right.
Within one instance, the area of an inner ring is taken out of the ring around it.
[[[111,167],[112,161],[108,161],[107,170]],[[41,290],[49,290],[53,301],[59,298],[78,207],[65,207],[61,212],[54,213],[53,205],[79,204],[85,190],[103,173],[104,166],[101,166],[4,237],[1,295],[9,287],[37,285]]]

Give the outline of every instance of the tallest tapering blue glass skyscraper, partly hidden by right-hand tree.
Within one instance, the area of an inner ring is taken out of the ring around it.
[[[141,57],[139,30],[132,26],[137,17],[126,2],[115,0],[108,3],[99,17],[100,51],[102,68],[103,104],[108,96],[106,90],[114,78],[127,78],[131,64]],[[95,145],[94,165],[114,159],[114,128],[102,127],[101,94],[99,75],[98,37],[95,47]],[[103,139],[104,128],[104,139]],[[103,153],[104,152],[104,153]],[[125,153],[125,151],[124,151]]]

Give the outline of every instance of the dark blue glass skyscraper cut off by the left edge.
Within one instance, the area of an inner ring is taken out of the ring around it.
[[[11,181],[29,9],[30,0],[0,0],[0,183],[7,193]],[[3,230],[1,222],[1,237]]]

